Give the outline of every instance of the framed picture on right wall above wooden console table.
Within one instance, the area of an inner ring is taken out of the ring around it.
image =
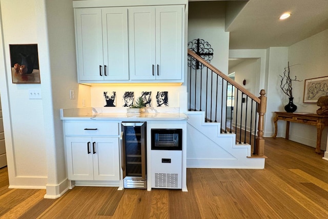
[[[305,79],[303,103],[317,103],[320,96],[328,95],[328,76]]]

